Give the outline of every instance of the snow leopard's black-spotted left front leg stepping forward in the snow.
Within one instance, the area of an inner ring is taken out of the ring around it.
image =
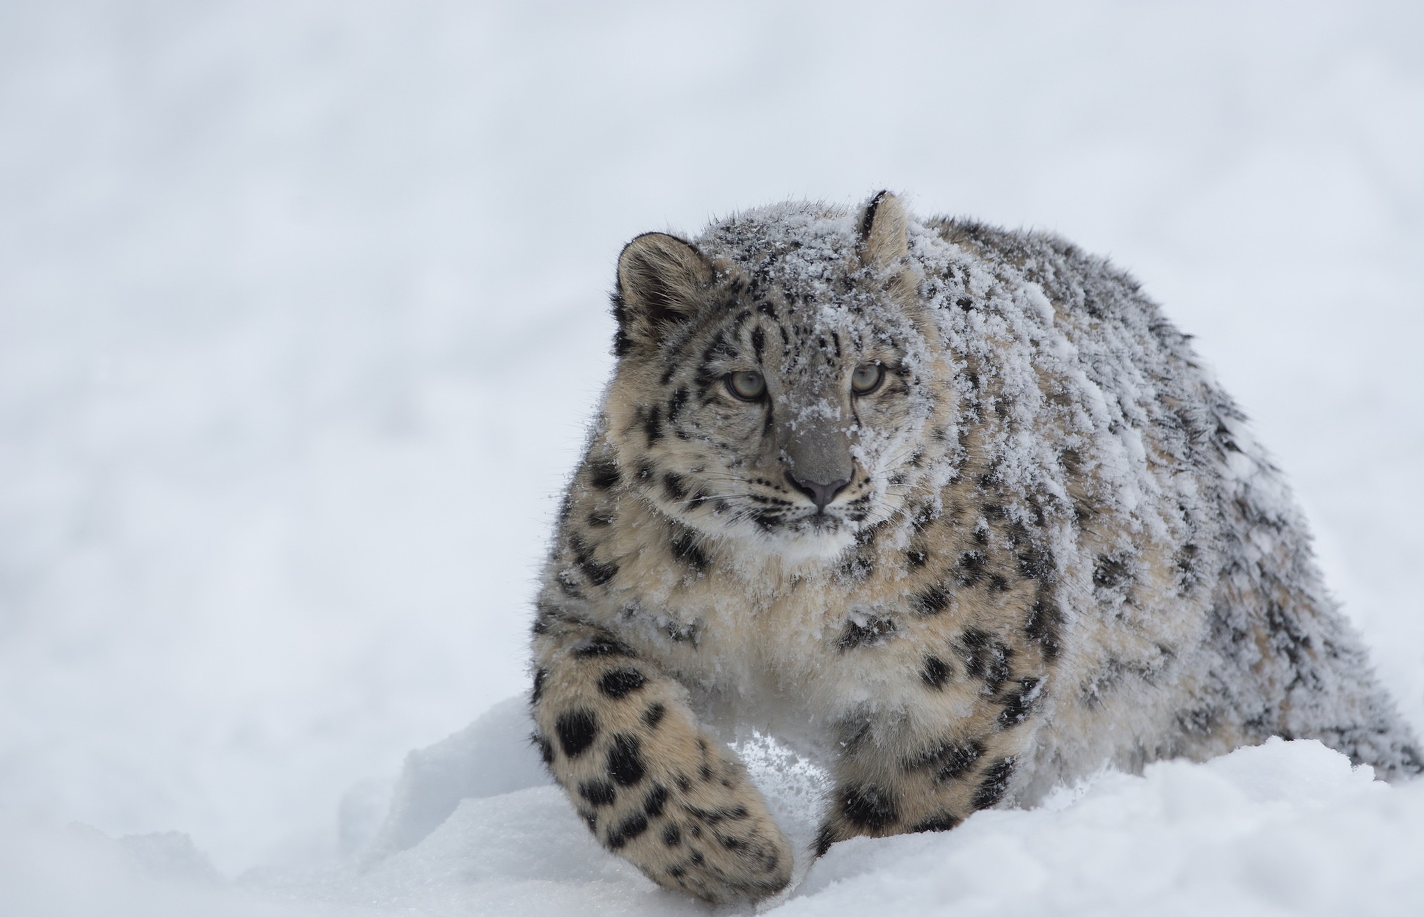
[[[601,627],[544,614],[535,629],[534,740],[588,830],[709,901],[785,887],[790,846],[682,685]]]

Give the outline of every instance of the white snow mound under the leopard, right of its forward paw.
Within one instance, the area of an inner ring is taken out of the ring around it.
[[[1415,913],[1424,782],[1388,787],[1314,740],[1105,773],[1030,812],[837,844],[785,914]]]

